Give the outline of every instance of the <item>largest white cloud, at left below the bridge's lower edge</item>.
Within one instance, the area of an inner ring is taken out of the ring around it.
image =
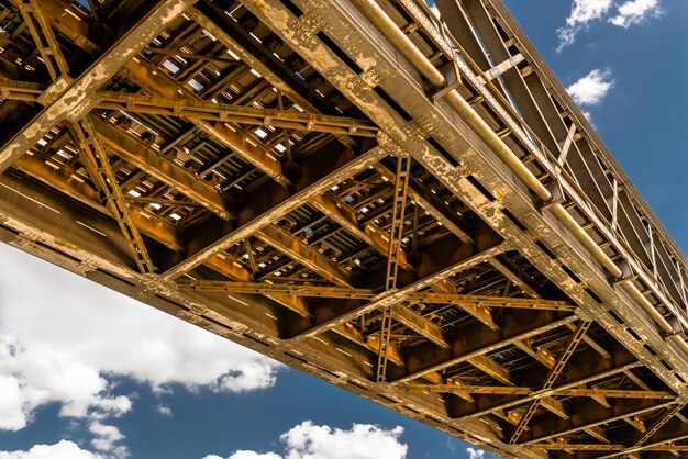
[[[9,246],[0,258],[0,429],[53,402],[65,417],[121,416],[132,400],[114,396],[113,376],[158,390],[275,383],[278,363],[252,350]]]

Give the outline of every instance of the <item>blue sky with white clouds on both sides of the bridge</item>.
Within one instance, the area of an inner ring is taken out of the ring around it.
[[[686,250],[688,2],[506,3]],[[490,457],[9,246],[0,259],[0,459]]]

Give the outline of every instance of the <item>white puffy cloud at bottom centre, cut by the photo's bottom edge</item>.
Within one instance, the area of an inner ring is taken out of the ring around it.
[[[408,446],[399,441],[402,433],[399,426],[385,429],[354,424],[346,430],[306,421],[279,437],[284,455],[241,450],[228,459],[404,459]],[[203,459],[222,458],[211,455]]]

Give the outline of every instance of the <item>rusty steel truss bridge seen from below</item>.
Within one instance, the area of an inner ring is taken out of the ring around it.
[[[0,0],[0,238],[502,457],[686,457],[686,258],[436,5]]]

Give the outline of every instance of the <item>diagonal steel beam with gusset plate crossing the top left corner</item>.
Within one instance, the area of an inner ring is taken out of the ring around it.
[[[53,126],[69,116],[78,117],[90,109],[93,93],[118,72],[122,65],[143,49],[160,30],[195,2],[196,0],[158,2],[81,76],[74,81],[56,80],[44,92],[43,111],[0,149],[0,173],[43,138]]]

